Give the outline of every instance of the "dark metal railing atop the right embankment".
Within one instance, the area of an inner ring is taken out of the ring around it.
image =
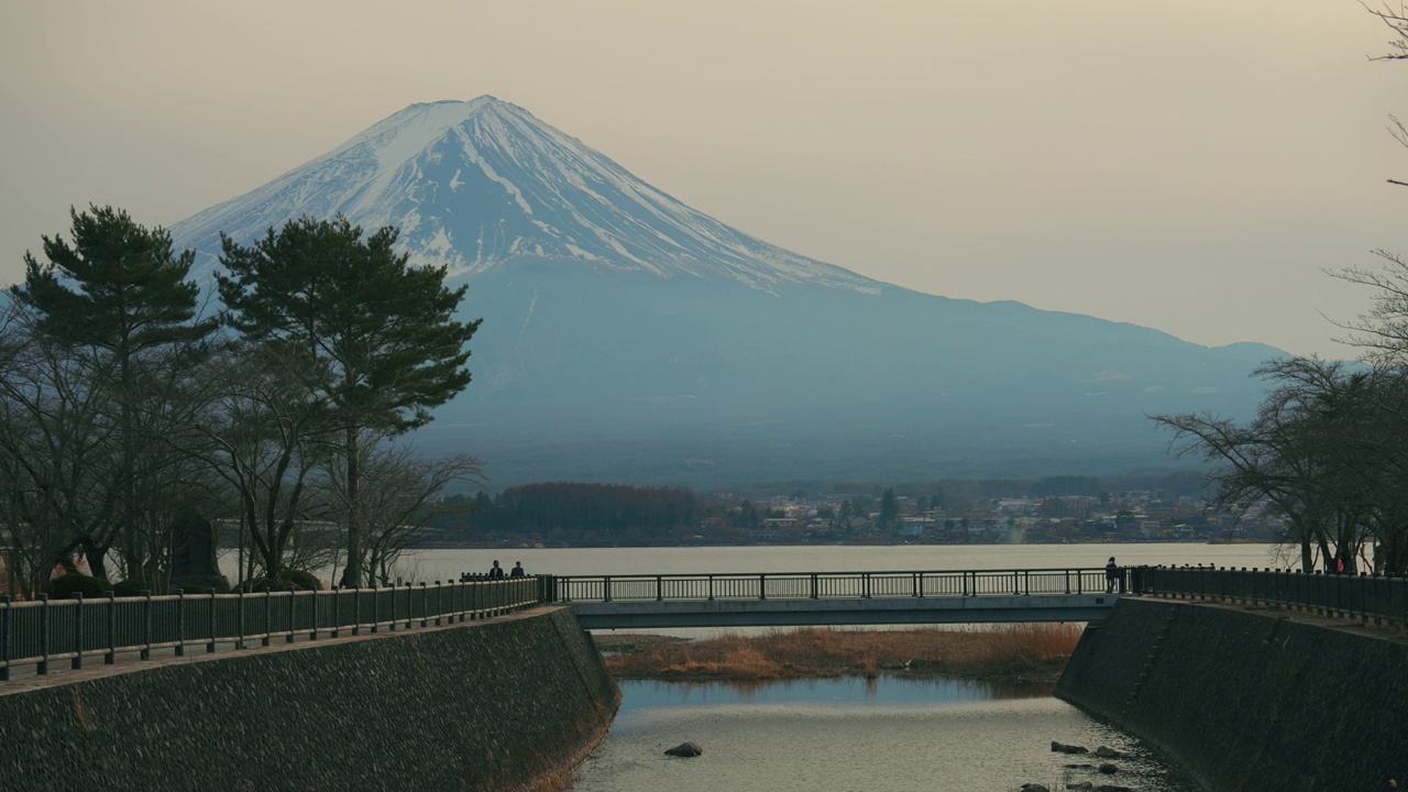
[[[1408,627],[1408,579],[1383,575],[1322,575],[1300,569],[1138,567],[1143,593],[1246,605],[1280,605],[1321,616]]]

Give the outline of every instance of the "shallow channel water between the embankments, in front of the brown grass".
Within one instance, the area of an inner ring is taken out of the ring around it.
[[[1045,689],[972,681],[812,679],[766,685],[622,682],[621,712],[573,792],[942,792],[1022,784],[1115,784],[1145,792],[1197,786],[1133,738]],[[1108,745],[1107,760],[1052,753],[1052,741]],[[665,750],[684,741],[704,755]],[[1087,765],[1069,768],[1067,765]]]

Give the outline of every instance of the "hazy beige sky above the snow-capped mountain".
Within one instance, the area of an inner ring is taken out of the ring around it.
[[[1408,63],[1354,0],[0,3],[0,282],[493,94],[773,244],[922,292],[1342,357],[1408,252]]]

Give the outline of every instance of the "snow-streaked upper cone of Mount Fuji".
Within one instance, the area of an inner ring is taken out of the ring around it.
[[[413,262],[445,265],[452,276],[536,256],[765,292],[783,283],[893,290],[698,213],[491,96],[413,104],[170,231],[208,264],[221,231],[248,242],[294,217],[338,213],[366,230],[398,227]]]

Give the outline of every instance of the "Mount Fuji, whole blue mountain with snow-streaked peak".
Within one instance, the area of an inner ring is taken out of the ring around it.
[[[496,486],[1167,468],[1145,414],[1250,414],[1250,371],[1281,354],[872,280],[487,96],[413,104],[170,233],[208,271],[221,231],[339,213],[469,283],[474,379],[417,443],[483,458]]]

